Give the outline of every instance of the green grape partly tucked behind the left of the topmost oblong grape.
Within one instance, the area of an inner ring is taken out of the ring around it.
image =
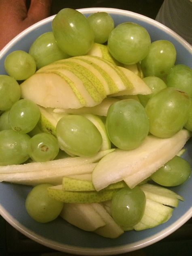
[[[29,49],[29,53],[33,56],[38,69],[56,60],[69,57],[58,47],[53,32],[46,32],[36,38]]]

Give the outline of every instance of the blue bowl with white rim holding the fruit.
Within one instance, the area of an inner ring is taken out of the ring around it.
[[[98,11],[108,12],[115,25],[131,21],[145,27],[151,40],[165,39],[171,41],[177,50],[177,64],[186,64],[192,68],[192,47],[179,35],[166,26],[143,15],[111,8],[79,9],[85,16]],[[51,31],[51,21],[54,15],[44,19],[16,36],[0,52],[0,74],[5,74],[4,59],[14,50],[28,51],[32,42],[41,34]],[[185,145],[183,158],[192,166],[192,140]],[[182,186],[173,188],[185,198],[173,211],[173,216],[164,224],[143,231],[127,231],[117,239],[100,237],[95,233],[86,232],[57,218],[53,222],[40,224],[30,218],[25,209],[25,199],[30,186],[11,183],[0,183],[0,214],[14,228],[30,239],[58,250],[79,255],[115,255],[141,249],[173,233],[192,217],[192,178]]]

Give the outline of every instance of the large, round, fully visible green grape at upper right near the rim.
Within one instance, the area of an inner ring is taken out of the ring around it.
[[[135,64],[145,58],[151,39],[142,26],[126,22],[115,27],[108,38],[108,49],[113,58],[124,64]]]

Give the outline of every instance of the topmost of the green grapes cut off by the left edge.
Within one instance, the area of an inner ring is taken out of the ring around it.
[[[11,109],[12,105],[21,97],[19,83],[8,75],[0,75],[0,110]]]

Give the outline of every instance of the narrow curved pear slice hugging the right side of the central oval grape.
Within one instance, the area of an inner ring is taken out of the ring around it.
[[[109,139],[109,136],[107,134],[107,129],[105,127],[105,124],[102,122],[100,117],[97,115],[92,115],[92,114],[83,114],[84,117],[89,119],[98,129],[98,131],[101,134],[102,137],[102,145],[100,147],[100,151],[107,150],[111,148],[111,141]]]

